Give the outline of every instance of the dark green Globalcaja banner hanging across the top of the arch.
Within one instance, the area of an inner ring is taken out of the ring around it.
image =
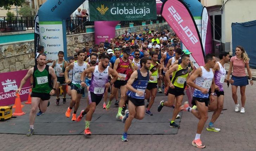
[[[156,19],[155,0],[89,1],[90,21],[130,21]]]

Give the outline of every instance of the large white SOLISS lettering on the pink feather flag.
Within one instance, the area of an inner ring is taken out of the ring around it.
[[[181,25],[181,23],[183,22],[183,19],[180,17],[179,13],[174,9],[173,6],[168,8],[168,11],[172,14],[173,18],[178,22],[178,24],[180,25],[181,29],[186,33],[186,35],[188,36],[188,38],[190,39],[190,41],[193,44],[196,44],[198,42],[198,39],[196,38],[196,36],[191,32],[190,28],[188,28],[187,26],[183,27]]]

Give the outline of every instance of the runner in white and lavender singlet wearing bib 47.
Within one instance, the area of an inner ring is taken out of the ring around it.
[[[101,58],[102,62],[100,65],[95,67],[90,67],[83,71],[81,75],[81,85],[82,87],[85,87],[85,82],[83,81],[85,74],[92,73],[91,76],[91,85],[89,87],[88,91],[88,97],[89,97],[89,105],[85,110],[81,111],[81,114],[79,115],[79,118],[81,121],[82,117],[86,115],[85,117],[85,130],[84,135],[91,135],[90,132],[90,121],[92,118],[92,114],[95,111],[96,105],[98,105],[104,95],[105,88],[110,87],[116,80],[117,80],[117,73],[112,68],[109,68],[109,56],[103,55]],[[113,79],[108,82],[108,76],[112,75]]]

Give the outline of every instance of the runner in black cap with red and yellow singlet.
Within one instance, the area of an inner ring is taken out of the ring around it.
[[[126,101],[126,83],[128,81],[127,78],[127,70],[129,69],[129,67],[134,70],[134,67],[132,65],[132,61],[128,59],[128,57],[130,56],[131,51],[129,47],[126,47],[123,50],[123,56],[120,58],[117,58],[114,64],[114,70],[117,71],[118,73],[118,78],[116,80],[116,82],[114,82],[114,88],[112,88],[112,93],[109,96],[109,102],[106,106],[106,110],[108,111],[110,109],[110,105],[111,105],[111,101],[113,100],[113,98],[116,96],[116,93],[118,91],[118,89],[120,89],[121,91],[121,98],[120,98],[120,102],[119,102],[119,108],[118,108],[118,112],[116,115],[117,119],[122,119],[122,108],[124,105],[124,102]]]

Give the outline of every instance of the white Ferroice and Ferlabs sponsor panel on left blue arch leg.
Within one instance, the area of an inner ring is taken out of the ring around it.
[[[46,60],[58,59],[58,52],[64,51],[62,21],[40,21],[39,29],[40,45],[44,46]]]

